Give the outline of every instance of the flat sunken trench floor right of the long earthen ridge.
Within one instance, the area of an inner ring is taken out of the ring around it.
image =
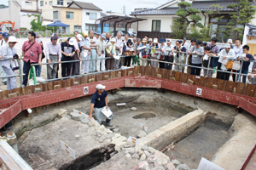
[[[227,126],[216,122],[204,122],[194,133],[175,144],[173,158],[196,169],[201,157],[212,160],[218,148],[230,138],[228,130]],[[165,154],[171,158],[172,150],[167,150]]]

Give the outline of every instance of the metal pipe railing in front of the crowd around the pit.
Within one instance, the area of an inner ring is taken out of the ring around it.
[[[222,71],[222,70],[216,70],[214,68],[212,68],[212,66],[210,65],[211,64],[211,59],[212,57],[213,58],[219,58],[218,56],[210,56],[209,55],[209,58],[208,58],[208,65],[207,67],[204,67],[204,66],[195,66],[195,65],[189,65],[188,64],[188,58],[189,58],[189,54],[186,53],[186,52],[176,52],[176,53],[179,53],[179,54],[184,54],[184,61],[181,63],[181,62],[177,62],[177,59],[173,59],[173,62],[169,62],[169,61],[162,61],[162,60],[159,60],[159,59],[150,59],[150,58],[139,58],[138,59],[142,59],[142,60],[146,60],[146,61],[154,61],[154,62],[157,62],[158,63],[158,68],[160,67],[160,63],[164,63],[164,64],[171,64],[171,65],[181,65],[183,66],[183,68],[187,67],[187,68],[199,68],[199,69],[204,69],[206,70],[207,69],[207,75],[209,73],[209,71],[219,71],[219,72],[225,72],[225,73],[232,73],[232,74],[236,74],[238,75],[238,78],[236,78],[236,81],[239,82],[241,81],[241,76],[246,76],[247,77],[247,74],[243,74],[241,73],[241,70],[242,70],[242,65],[244,62],[253,62],[255,63],[256,61],[255,60],[243,60],[241,59],[241,66],[240,66],[240,70],[238,72],[232,72],[232,71]],[[197,55],[200,55],[200,56],[203,56],[203,54],[197,54]],[[136,55],[124,55],[124,56],[120,56],[120,60],[122,58],[125,58],[125,57],[132,57],[132,59],[134,59]],[[148,56],[148,55],[147,55]],[[175,56],[173,56],[175,58]],[[22,58],[21,58],[22,59]],[[20,65],[20,60],[21,59],[17,59],[18,60],[18,63]],[[81,60],[68,60],[68,61],[61,61],[61,64],[62,63],[74,63],[74,62],[80,62],[80,61],[93,61],[93,60],[107,60],[107,59],[114,59],[113,57],[107,57],[107,58],[101,58],[101,59],[81,59]],[[0,62],[3,61],[3,60],[11,60],[11,59],[0,59]],[[234,59],[232,59],[234,60]],[[131,62],[132,63],[132,62]],[[55,64],[58,64],[58,62],[51,62],[51,65],[55,65]],[[91,63],[90,63],[91,64]],[[39,64],[31,64],[32,66],[37,66]],[[42,63],[42,66],[43,65],[49,65],[49,63]],[[132,65],[131,65],[132,66]],[[79,66],[80,67],[80,66]],[[129,67],[127,67],[129,68]],[[116,69],[115,71],[120,71],[120,70],[123,70],[125,69],[124,67],[122,68],[119,68],[119,69]],[[172,69],[173,70],[173,69]],[[113,70],[111,70],[113,71]],[[174,69],[175,71],[175,69]],[[93,71],[90,71],[90,73],[88,74],[79,74],[79,75],[75,75],[75,76],[69,76],[69,77],[59,77],[59,78],[53,78],[53,79],[45,79],[45,82],[50,82],[50,81],[55,81],[55,80],[64,80],[64,79],[67,79],[67,78],[71,78],[71,77],[83,77],[85,75],[94,75],[94,74],[97,74],[97,73],[101,73],[101,72],[109,72],[109,71],[97,71],[97,68]],[[189,73],[189,72],[187,72]],[[190,74],[190,73],[189,73]],[[9,78],[9,77],[20,77],[20,87],[22,87],[22,80],[23,80],[23,76],[25,74],[22,73],[22,70],[21,70],[21,65],[19,66],[19,74],[15,74],[14,76],[5,76],[5,77],[0,77],[0,78]]]

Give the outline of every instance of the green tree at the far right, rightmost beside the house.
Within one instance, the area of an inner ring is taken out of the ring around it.
[[[226,35],[234,35],[233,39],[241,38],[243,36],[244,26],[249,23],[255,15],[255,7],[253,3],[248,0],[234,0],[235,4],[230,4],[227,8],[232,9],[230,12],[231,22],[226,27]]]

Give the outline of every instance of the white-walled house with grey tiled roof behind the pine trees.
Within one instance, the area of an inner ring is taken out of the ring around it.
[[[225,29],[226,24],[231,20],[229,16],[230,8],[227,8],[227,5],[236,3],[232,0],[171,0],[157,8],[135,9],[131,13],[132,16],[148,19],[138,24],[138,37],[143,37],[146,34],[149,37],[171,37],[173,22],[177,19],[177,15],[175,15],[178,10],[177,3],[182,1],[191,3],[191,8],[200,10],[201,24],[204,26],[212,24],[213,31]],[[218,8],[212,7],[214,4],[222,7],[219,9],[219,13],[216,13]],[[253,5],[256,6],[256,3],[253,3]],[[212,14],[207,13],[209,11],[212,11]],[[223,18],[218,19],[219,15],[222,15]]]

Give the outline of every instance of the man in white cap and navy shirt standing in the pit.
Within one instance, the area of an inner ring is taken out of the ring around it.
[[[92,111],[94,109],[96,114],[96,121],[102,125],[102,119],[104,114],[102,113],[102,109],[106,107],[108,109],[108,94],[105,91],[106,86],[103,86],[102,84],[96,85],[96,92],[92,95],[92,99],[90,101],[90,115],[89,119],[92,116]],[[107,127],[113,127],[113,125],[110,123],[110,121],[113,119],[113,115],[106,117],[106,126]]]

